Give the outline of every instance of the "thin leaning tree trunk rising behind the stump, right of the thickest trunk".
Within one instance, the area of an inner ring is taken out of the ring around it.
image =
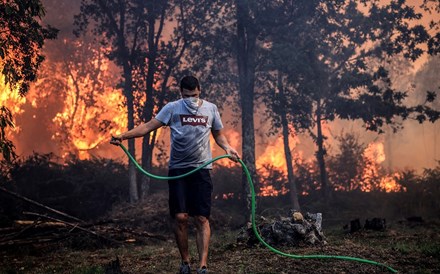
[[[283,78],[281,72],[278,72],[278,91],[280,96],[280,102],[283,104],[286,102],[286,97],[284,95]],[[298,190],[296,187],[295,176],[293,172],[293,159],[292,153],[290,152],[289,144],[289,124],[287,121],[286,105],[281,106],[280,109],[281,125],[283,129],[283,144],[284,144],[284,155],[286,157],[287,165],[287,180],[290,186],[290,201],[292,203],[293,210],[301,211],[298,200]]]

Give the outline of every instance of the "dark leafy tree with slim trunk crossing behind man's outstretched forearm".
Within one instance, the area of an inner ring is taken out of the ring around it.
[[[122,70],[123,93],[126,98],[128,129],[134,127],[133,75],[142,58],[146,43],[145,9],[142,2],[129,1],[82,1],[81,13],[76,16],[77,34],[85,32],[90,19],[95,21],[93,34],[101,44],[108,47],[107,57]],[[129,140],[128,150],[135,155],[134,140]],[[136,170],[129,162],[130,201],[137,201]]]

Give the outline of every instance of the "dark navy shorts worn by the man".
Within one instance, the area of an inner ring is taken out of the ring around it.
[[[190,168],[170,169],[168,176],[178,176]],[[188,213],[189,216],[211,215],[212,181],[210,169],[200,169],[195,173],[177,180],[169,180],[169,207],[171,217],[177,213]]]

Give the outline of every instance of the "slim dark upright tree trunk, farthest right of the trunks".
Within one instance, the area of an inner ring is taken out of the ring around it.
[[[324,148],[324,136],[322,135],[322,113],[321,113],[321,101],[318,101],[317,109],[316,109],[316,127],[317,127],[317,136],[316,136],[316,145],[318,146],[318,151],[316,153],[316,158],[318,160],[319,165],[319,174],[321,179],[321,191],[323,197],[328,198],[329,190],[327,185],[327,171],[325,169],[325,160],[324,156],[326,154]]]

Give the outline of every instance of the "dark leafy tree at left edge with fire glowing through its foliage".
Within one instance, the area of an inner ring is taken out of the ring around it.
[[[44,56],[41,54],[46,39],[54,39],[57,31],[40,25],[44,16],[39,0],[11,0],[0,2],[0,67],[4,78],[2,97],[18,90],[24,96],[36,80]],[[8,91],[9,89],[9,91]],[[0,101],[3,104],[3,99]],[[13,127],[12,113],[0,106],[0,152],[10,161],[15,158],[14,145],[6,138],[6,128]]]

